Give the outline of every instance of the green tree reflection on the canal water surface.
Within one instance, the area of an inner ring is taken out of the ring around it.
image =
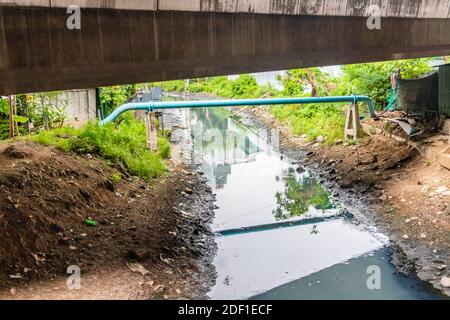
[[[275,194],[277,208],[273,210],[277,221],[303,216],[311,207],[322,211],[336,207],[331,194],[309,174],[298,176],[290,167],[282,179],[284,190]]]

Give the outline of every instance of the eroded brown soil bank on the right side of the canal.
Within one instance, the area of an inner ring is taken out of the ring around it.
[[[324,146],[293,136],[265,108],[249,108],[245,116],[277,129],[280,149],[297,159],[299,170],[311,168],[351,213],[386,233],[398,248],[393,262],[399,270],[416,272],[450,295],[449,170],[383,134]]]

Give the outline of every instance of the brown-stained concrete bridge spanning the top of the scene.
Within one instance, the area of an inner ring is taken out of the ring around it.
[[[448,55],[449,17],[450,0],[0,0],[0,94]]]

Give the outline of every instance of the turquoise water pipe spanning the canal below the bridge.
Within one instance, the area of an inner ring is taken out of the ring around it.
[[[358,103],[366,102],[372,118],[377,115],[373,109],[372,100],[367,96],[335,96],[335,97],[310,97],[310,98],[270,98],[270,99],[228,99],[228,100],[194,100],[194,101],[149,101],[127,103],[115,109],[100,124],[107,124],[117,119],[119,115],[129,110],[145,110],[148,112],[156,109],[187,109],[187,108],[216,108],[239,106],[264,106],[282,104],[314,104],[314,103]]]

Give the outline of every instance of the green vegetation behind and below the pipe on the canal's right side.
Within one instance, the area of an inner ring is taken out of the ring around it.
[[[432,71],[430,59],[410,59],[378,63],[346,65],[342,75],[330,76],[320,68],[289,70],[278,78],[283,85],[279,91],[261,86],[251,75],[236,80],[227,77],[169,81],[155,83],[165,91],[208,93],[223,98],[309,97],[335,95],[368,95],[381,110],[390,92],[390,75],[401,70],[403,78],[418,78]],[[324,137],[325,144],[343,139],[346,106],[342,104],[315,104],[273,106],[270,112],[281,122],[288,123],[294,134],[305,134],[309,140]],[[361,109],[366,115],[366,110]]]

